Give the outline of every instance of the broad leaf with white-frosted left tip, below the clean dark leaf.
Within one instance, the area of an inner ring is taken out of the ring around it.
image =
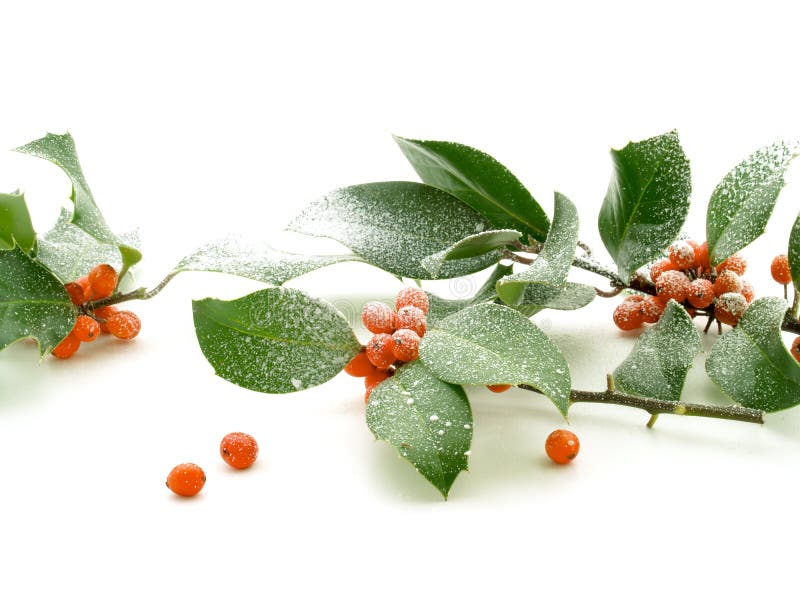
[[[491,226],[478,213],[434,187],[411,181],[354,185],[312,203],[288,226],[332,238],[368,263],[401,277],[429,279],[422,260]],[[500,253],[448,261],[439,277],[485,269]]]

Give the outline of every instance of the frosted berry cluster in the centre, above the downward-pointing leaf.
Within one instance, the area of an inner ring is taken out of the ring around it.
[[[428,307],[428,295],[414,287],[397,293],[394,310],[383,302],[364,305],[361,321],[374,335],[344,370],[353,377],[364,377],[365,402],[375,386],[391,377],[398,366],[419,357],[419,342],[428,327]]]

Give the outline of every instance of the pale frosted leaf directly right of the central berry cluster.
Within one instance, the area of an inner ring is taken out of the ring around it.
[[[499,304],[466,308],[431,327],[420,359],[440,379],[458,384],[526,384],[566,416],[569,366],[558,347],[527,318]]]

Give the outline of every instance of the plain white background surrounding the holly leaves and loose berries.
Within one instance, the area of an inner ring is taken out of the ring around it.
[[[415,179],[391,133],[489,152],[548,213],[565,193],[601,256],[609,147],[677,128],[687,230],[702,239],[725,172],[800,137],[791,3],[260,4],[0,8],[0,148],[70,130],[112,228],[142,232],[145,285],[222,234],[271,239],[330,189]],[[795,173],[746,251],[759,295],[780,291],[767,269],[800,206]],[[18,187],[46,231],[66,180],[3,151],[0,189]],[[363,265],[292,285],[345,308],[398,287]],[[26,343],[0,356],[1,597],[792,593],[800,409],[763,427],[662,417],[647,430],[638,411],[578,405],[582,452],[557,468],[543,442],[563,422],[545,399],[471,389],[471,470],[444,502],[374,441],[361,382],[266,396],[214,376],[190,300],[257,287],[182,275],[131,306],[144,322],[133,343],[41,364]],[[536,318],[576,387],[600,389],[633,343],[614,304]],[[685,393],[725,401],[702,360]],[[260,442],[249,471],[218,458],[235,430]],[[163,485],[184,461],[208,475],[190,501]]]

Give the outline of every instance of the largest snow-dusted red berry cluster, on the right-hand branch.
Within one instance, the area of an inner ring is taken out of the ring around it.
[[[656,323],[667,302],[675,300],[686,306],[690,315],[707,310],[726,325],[736,325],[753,301],[753,286],[742,279],[747,261],[734,254],[716,267],[708,259],[708,242],[675,242],[669,256],[650,268],[655,296],[632,295],[614,310],[614,323],[625,331]]]

